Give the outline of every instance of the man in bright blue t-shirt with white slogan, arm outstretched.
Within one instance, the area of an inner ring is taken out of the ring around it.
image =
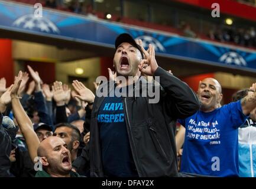
[[[178,120],[184,128],[181,172],[217,177],[238,177],[238,127],[256,106],[256,93],[219,107],[221,84],[213,78],[199,83],[202,105],[194,115]],[[177,138],[177,136],[179,138]],[[177,148],[181,145],[177,144]]]

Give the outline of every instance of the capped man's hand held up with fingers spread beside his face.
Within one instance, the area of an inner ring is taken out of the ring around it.
[[[142,51],[145,54],[145,59],[141,60],[140,64],[138,65],[139,70],[141,73],[146,74],[147,76],[154,76],[155,70],[158,68],[157,61],[155,60],[155,49],[154,47],[150,44],[149,45],[149,52],[148,56],[147,51],[143,47]]]

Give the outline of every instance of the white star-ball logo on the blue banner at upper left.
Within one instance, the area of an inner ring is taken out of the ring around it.
[[[35,17],[33,14],[24,15],[12,24],[27,30],[39,30],[41,32],[59,34],[60,31],[53,22],[44,17]]]

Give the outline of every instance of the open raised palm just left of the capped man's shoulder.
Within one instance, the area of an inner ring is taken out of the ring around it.
[[[74,97],[78,97],[80,100],[88,103],[94,102],[95,95],[82,82],[74,80],[72,86],[74,87],[74,90],[76,90],[76,92],[79,94],[76,94]]]

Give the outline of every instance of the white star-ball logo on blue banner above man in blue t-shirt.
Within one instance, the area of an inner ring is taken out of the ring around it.
[[[235,52],[228,52],[223,54],[219,60],[226,64],[235,64],[237,66],[247,66],[246,61],[242,56]]]

